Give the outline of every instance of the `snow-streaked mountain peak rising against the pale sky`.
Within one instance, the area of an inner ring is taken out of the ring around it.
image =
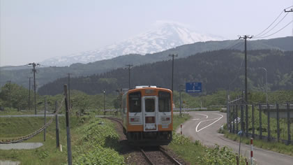
[[[137,35],[121,43],[108,45],[93,51],[80,52],[74,55],[54,57],[41,64],[47,66],[68,66],[74,63],[89,63],[103,59],[112,59],[121,55],[161,52],[179,45],[200,41],[222,41],[225,38],[210,34],[200,34],[176,22],[165,22],[155,29]]]

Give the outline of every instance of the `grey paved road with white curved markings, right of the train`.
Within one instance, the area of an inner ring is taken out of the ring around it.
[[[183,123],[183,134],[189,136],[194,141],[199,140],[204,145],[227,146],[232,148],[238,153],[239,143],[227,139],[223,134],[218,134],[217,130],[220,129],[226,122],[226,113],[218,111],[201,111],[189,112],[191,120]],[[176,130],[180,133],[180,128]],[[250,157],[250,145],[241,144],[241,155]],[[293,157],[263,150],[254,147],[253,157],[256,159],[257,164],[293,164]]]

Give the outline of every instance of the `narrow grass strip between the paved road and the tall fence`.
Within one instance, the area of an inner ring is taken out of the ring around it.
[[[225,134],[226,138],[230,138],[233,141],[239,141],[240,137],[236,134],[230,134],[227,130],[224,130],[223,133]],[[250,138],[241,138],[241,143],[250,144]],[[267,142],[258,139],[253,140],[253,145],[257,146],[258,148],[263,148],[266,150],[272,150],[275,152],[279,152],[286,155],[293,156],[293,145],[285,145],[284,143],[278,142]]]

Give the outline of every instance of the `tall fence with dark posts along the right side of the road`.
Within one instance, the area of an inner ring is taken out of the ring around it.
[[[230,133],[292,144],[293,103],[229,103],[227,126]]]

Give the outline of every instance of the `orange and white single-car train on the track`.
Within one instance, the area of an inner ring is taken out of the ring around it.
[[[134,145],[167,145],[172,141],[172,91],[139,86],[123,94],[123,131]]]

